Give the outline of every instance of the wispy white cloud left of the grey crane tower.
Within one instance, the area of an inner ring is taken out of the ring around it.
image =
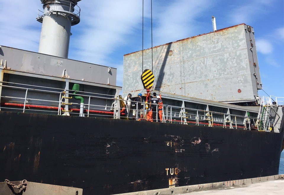
[[[0,1],[0,45],[38,51],[41,24],[35,20],[41,2]]]

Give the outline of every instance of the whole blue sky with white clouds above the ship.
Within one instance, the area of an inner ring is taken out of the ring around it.
[[[144,48],[151,47],[151,5],[144,0]],[[69,58],[118,69],[123,55],[142,49],[142,0],[82,0],[81,22],[71,29]],[[284,97],[283,0],[153,0],[153,45],[246,23],[254,27],[263,89]],[[0,45],[38,51],[40,0],[0,1]],[[259,95],[266,95],[259,90]]]

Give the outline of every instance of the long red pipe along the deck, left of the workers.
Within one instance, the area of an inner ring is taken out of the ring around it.
[[[1,103],[1,106],[15,106],[15,107],[20,107],[24,108],[24,104],[14,104],[14,103]],[[46,110],[58,110],[58,107],[53,107],[53,106],[39,106],[39,105],[31,105],[31,104],[26,104],[25,108],[39,108],[39,109],[46,109]],[[64,108],[60,108],[63,110]],[[80,109],[76,108],[71,108],[71,111],[80,111]],[[88,113],[88,110],[84,110],[86,113]],[[113,112],[108,112],[108,111],[93,111],[90,110],[89,112],[91,113],[100,113],[100,114],[113,114]],[[120,112],[121,115],[125,115],[125,113]]]

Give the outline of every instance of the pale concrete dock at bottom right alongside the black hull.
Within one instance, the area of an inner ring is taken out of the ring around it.
[[[283,194],[284,175],[205,183],[191,186],[171,187],[164,189],[139,191],[119,195],[178,195],[178,194]],[[117,194],[118,195],[118,194]]]

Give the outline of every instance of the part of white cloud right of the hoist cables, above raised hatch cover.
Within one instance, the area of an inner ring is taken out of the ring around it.
[[[158,7],[154,16],[154,45],[169,43],[196,35],[203,26],[196,19],[209,8],[211,1],[173,1],[172,4]],[[156,8],[155,8],[156,9]],[[210,14],[209,14],[210,17]]]

